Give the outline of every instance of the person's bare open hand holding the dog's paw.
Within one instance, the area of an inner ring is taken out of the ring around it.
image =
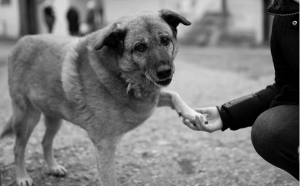
[[[205,131],[210,133],[222,129],[223,122],[217,107],[198,108],[195,109],[195,111],[206,115],[206,120],[208,123],[204,121],[204,117],[201,117],[203,115],[197,115],[194,121],[188,119],[182,120],[187,127],[196,131]]]

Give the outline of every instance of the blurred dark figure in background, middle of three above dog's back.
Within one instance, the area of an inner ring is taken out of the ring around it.
[[[69,33],[72,36],[79,35],[79,13],[74,6],[71,6],[67,12],[67,20],[69,23]]]

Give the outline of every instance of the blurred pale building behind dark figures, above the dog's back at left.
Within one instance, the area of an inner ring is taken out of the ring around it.
[[[0,37],[18,38],[27,34],[47,33],[45,6],[55,11],[54,34],[67,35],[68,8],[76,7],[81,21],[86,15],[88,0],[0,0]]]

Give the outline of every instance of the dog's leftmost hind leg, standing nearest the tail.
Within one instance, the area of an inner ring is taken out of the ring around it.
[[[32,104],[28,103],[26,109],[20,108],[13,103],[12,122],[16,134],[16,143],[14,147],[15,164],[16,164],[16,180],[19,186],[32,186],[32,179],[29,177],[25,165],[24,155],[28,139],[37,125],[41,116],[41,112],[35,109]]]

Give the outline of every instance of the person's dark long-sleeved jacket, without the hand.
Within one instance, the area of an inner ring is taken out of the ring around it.
[[[275,83],[218,106],[223,131],[252,126],[269,108],[299,105],[299,4],[292,0],[274,0],[267,12],[274,15],[271,54]]]

